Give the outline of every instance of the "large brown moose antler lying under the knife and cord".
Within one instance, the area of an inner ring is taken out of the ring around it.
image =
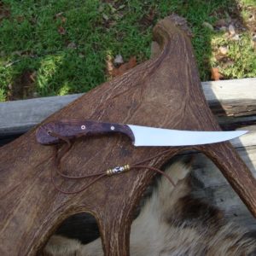
[[[187,35],[167,17],[154,27],[160,55],[123,76],[102,84],[44,123],[59,119],[96,119],[180,130],[220,131],[201,90],[195,56]],[[42,125],[42,124],[41,124]],[[129,255],[131,216],[154,173],[132,171],[106,177],[78,195],[56,192],[50,183],[54,149],[36,140],[37,127],[0,148],[0,254],[35,255],[63,219],[90,212],[99,224],[105,255]],[[160,167],[178,152],[151,160]],[[230,143],[196,147],[224,173],[255,215],[255,180]],[[63,159],[66,172],[83,175],[134,163],[163,148],[135,148],[122,135],[86,138],[74,143]],[[90,179],[73,183],[55,177],[62,188],[76,190]],[[15,243],[14,243],[15,241]]]

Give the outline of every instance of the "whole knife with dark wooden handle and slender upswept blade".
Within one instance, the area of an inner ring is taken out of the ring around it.
[[[61,137],[98,136],[123,133],[137,147],[191,146],[220,143],[247,133],[247,131],[180,131],[140,125],[103,123],[90,119],[53,121],[38,127],[37,140],[42,144],[59,143]]]

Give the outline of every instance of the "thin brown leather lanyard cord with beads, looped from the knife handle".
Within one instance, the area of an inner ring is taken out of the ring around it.
[[[114,174],[118,174],[120,172],[127,172],[127,171],[132,170],[132,169],[140,169],[140,170],[144,169],[144,170],[150,170],[150,171],[153,171],[153,172],[158,172],[161,175],[165,176],[168,179],[168,181],[170,183],[172,183],[172,186],[175,186],[175,183],[173,183],[172,178],[169,175],[167,175],[166,172],[163,172],[160,169],[154,168],[152,166],[142,165],[145,162],[148,162],[150,160],[154,160],[154,158],[156,158],[158,156],[161,156],[161,155],[164,155],[164,154],[167,154],[167,153],[171,152],[171,149],[167,149],[167,150],[165,150],[165,151],[163,151],[159,154],[155,154],[154,156],[151,156],[148,159],[139,161],[136,164],[125,165],[125,166],[116,166],[115,168],[108,169],[107,171],[104,171],[104,172],[97,172],[97,173],[87,174],[87,175],[84,175],[84,176],[69,176],[69,175],[66,175],[63,172],[61,172],[61,159],[70,150],[70,148],[72,147],[72,144],[70,143],[70,140],[67,137],[62,137],[60,134],[57,134],[53,131],[51,131],[50,135],[53,136],[53,137],[57,137],[61,141],[66,143],[65,147],[61,148],[60,152],[58,152],[57,148],[55,148],[55,169],[56,169],[56,172],[61,177],[66,178],[66,179],[71,179],[71,180],[79,180],[79,179],[83,179],[83,178],[87,178],[87,177],[95,177],[90,183],[86,184],[81,189],[78,189],[78,190],[75,190],[75,191],[65,191],[65,190],[61,189],[55,183],[55,179],[54,179],[54,175],[53,175],[53,169],[51,169],[51,172],[50,172],[51,183],[53,183],[56,190],[58,190],[59,192],[65,194],[65,195],[78,194],[78,193],[84,191],[85,189],[88,189],[93,183],[96,183],[96,181],[98,181],[102,177],[113,176]]]

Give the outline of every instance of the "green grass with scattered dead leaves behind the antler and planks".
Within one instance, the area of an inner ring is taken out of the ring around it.
[[[211,67],[218,66],[212,49],[223,44],[229,45],[229,58],[234,62],[221,70],[225,78],[256,76],[255,53],[247,32],[241,33],[239,42],[230,42],[222,32],[202,25],[226,18],[236,8],[233,0],[2,2],[9,15],[0,20],[0,101],[27,70],[36,72],[38,96],[90,90],[108,79],[108,55],[121,54],[125,61],[132,55],[138,62],[147,60],[154,24],[172,13],[189,22],[201,80],[209,80]],[[56,17],[59,13],[63,14]],[[58,32],[60,26],[65,34]]]

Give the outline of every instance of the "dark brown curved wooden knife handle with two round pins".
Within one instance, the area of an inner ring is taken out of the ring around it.
[[[68,119],[53,121],[39,126],[37,131],[38,143],[46,145],[60,143],[58,137],[51,135],[52,132],[61,135],[61,137],[67,137],[68,139],[119,132],[130,137],[132,143],[135,141],[134,135],[128,125],[102,123],[90,119]]]

